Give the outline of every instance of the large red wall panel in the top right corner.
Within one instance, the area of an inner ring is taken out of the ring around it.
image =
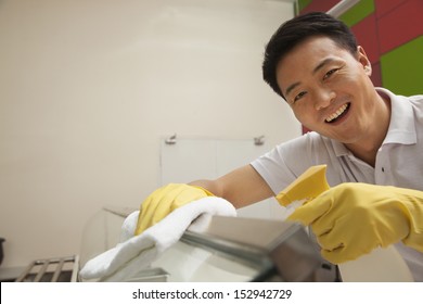
[[[381,54],[423,35],[423,1],[409,0],[377,20]]]

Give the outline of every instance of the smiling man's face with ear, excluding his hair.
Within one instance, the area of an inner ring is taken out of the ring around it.
[[[296,46],[277,67],[278,85],[297,119],[344,143],[360,140],[377,123],[370,74],[361,47],[351,54],[323,36]]]

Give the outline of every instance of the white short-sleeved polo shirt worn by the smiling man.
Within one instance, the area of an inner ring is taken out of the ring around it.
[[[423,191],[423,96],[402,97],[376,88],[390,99],[392,115],[387,135],[372,167],[355,157],[344,144],[308,132],[277,145],[252,162],[274,193],[313,165],[326,164],[329,185],[367,182]],[[377,124],[375,121],[374,124]],[[423,281],[423,253],[397,244],[416,281]]]

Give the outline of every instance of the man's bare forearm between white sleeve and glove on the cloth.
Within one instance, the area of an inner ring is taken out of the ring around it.
[[[274,193],[253,168],[245,165],[215,180],[195,180],[191,186],[200,186],[213,194],[231,202],[236,208],[251,205],[273,197]]]

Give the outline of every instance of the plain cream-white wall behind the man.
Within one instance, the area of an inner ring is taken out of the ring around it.
[[[1,267],[79,251],[159,182],[161,140],[300,134],[261,80],[277,0],[0,0]]]

